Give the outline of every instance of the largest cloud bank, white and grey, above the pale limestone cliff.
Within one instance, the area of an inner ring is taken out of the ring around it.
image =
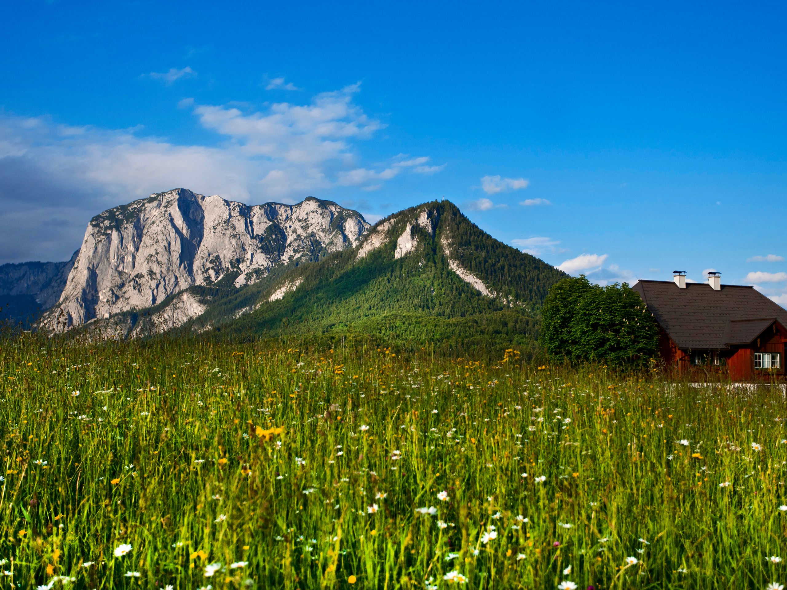
[[[376,190],[426,164],[400,155],[379,170],[359,165],[354,144],[383,125],[353,103],[358,90],[246,111],[183,101],[201,127],[224,136],[213,146],[0,114],[0,264],[66,260],[96,213],[179,186],[250,204],[292,203],[355,183]]]

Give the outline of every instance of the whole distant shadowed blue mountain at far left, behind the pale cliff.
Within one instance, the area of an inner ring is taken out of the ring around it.
[[[78,254],[64,262],[0,265],[0,320],[27,323],[56,304]]]

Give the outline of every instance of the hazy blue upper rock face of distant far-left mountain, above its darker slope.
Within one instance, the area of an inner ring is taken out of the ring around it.
[[[0,295],[30,295],[42,309],[49,309],[60,299],[77,250],[65,262],[24,262],[0,265]]]

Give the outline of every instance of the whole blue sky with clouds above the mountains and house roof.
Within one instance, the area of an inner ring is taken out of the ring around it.
[[[375,220],[445,197],[600,282],[722,272],[787,304],[778,3],[16,2],[0,263],[185,186]]]

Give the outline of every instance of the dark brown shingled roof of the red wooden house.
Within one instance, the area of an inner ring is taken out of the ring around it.
[[[719,350],[748,344],[774,320],[787,326],[787,309],[753,287],[688,282],[681,289],[672,281],[639,281],[632,289],[678,348]]]

